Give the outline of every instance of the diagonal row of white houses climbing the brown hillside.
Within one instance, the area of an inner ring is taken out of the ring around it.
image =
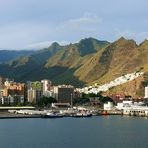
[[[86,94],[89,94],[89,93],[97,94],[98,92],[107,91],[112,87],[124,84],[124,83],[126,83],[128,81],[132,81],[132,80],[136,79],[137,77],[139,77],[141,75],[143,75],[143,72],[130,73],[130,74],[118,77],[117,79],[115,79],[115,80],[113,80],[113,81],[111,81],[109,83],[106,83],[104,85],[98,86],[97,84],[95,84],[93,86],[84,87],[84,88],[80,89],[79,91],[83,92],[83,93],[86,93]]]

